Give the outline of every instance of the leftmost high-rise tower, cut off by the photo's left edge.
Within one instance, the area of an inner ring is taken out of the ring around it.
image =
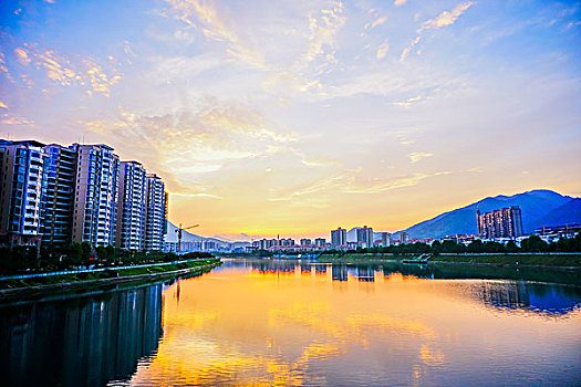
[[[40,247],[43,146],[35,140],[0,140],[0,234],[8,245]]]

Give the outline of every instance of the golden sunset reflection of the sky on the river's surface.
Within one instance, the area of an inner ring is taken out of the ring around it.
[[[522,354],[518,345],[551,353],[554,343],[580,343],[579,310],[566,320],[501,315],[483,307],[469,284],[363,269],[339,274],[333,281],[331,266],[304,264],[221,268],[174,284],[158,352],[131,383],[414,385],[435,380],[438,369],[461,372],[483,359],[492,366]]]

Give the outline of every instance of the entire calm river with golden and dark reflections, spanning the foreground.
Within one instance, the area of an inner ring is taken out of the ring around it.
[[[225,260],[172,283],[1,305],[0,372],[14,386],[581,383],[571,274],[461,270]]]

